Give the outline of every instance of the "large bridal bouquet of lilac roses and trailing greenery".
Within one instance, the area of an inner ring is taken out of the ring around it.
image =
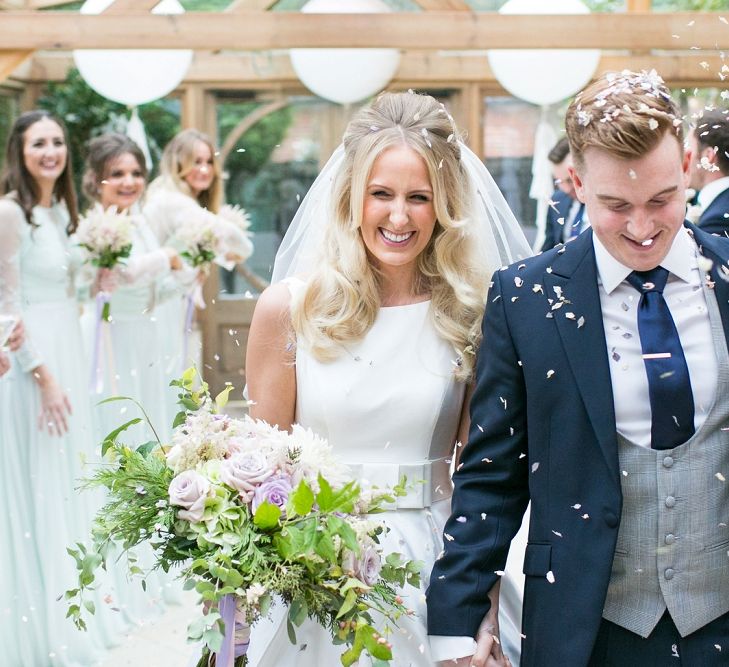
[[[205,613],[189,628],[205,647],[200,667],[247,664],[250,627],[274,598],[288,605],[292,642],[296,626],[311,618],[346,645],[343,665],[363,652],[388,664],[387,633],[409,613],[397,588],[419,586],[421,563],[383,554],[379,540],[387,529],[367,515],[403,495],[404,481],[365,492],[311,431],[282,432],[220,414],[231,388],[212,400],[205,383],[195,390],[195,381],[188,370],[172,383],[185,411],[171,446],[121,444],[124,430],[140,419],[105,439],[110,463],[85,486],[104,487],[108,502],[95,519],[93,546],[69,549],[79,578],[66,593],[68,615],[85,627],[82,610],[93,613],[93,605],[84,593],[114,543],[128,552],[149,542],[155,567],[179,566],[185,588],[200,594]],[[387,627],[375,627],[373,612]]]

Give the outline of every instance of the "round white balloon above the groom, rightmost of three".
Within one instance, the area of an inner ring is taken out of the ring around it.
[[[509,0],[500,14],[589,14],[580,0]],[[565,22],[565,30],[568,24]],[[554,104],[582,90],[600,62],[599,49],[498,49],[488,54],[499,83],[532,104]]]

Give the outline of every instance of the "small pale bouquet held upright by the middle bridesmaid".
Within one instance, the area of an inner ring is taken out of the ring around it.
[[[119,213],[116,206],[104,210],[93,207],[81,218],[76,229],[76,240],[88,254],[88,261],[101,269],[113,269],[132,251],[132,222],[129,215]],[[97,297],[102,305],[101,319],[109,321],[109,295]]]

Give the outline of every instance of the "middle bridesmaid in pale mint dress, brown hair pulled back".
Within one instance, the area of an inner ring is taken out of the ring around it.
[[[147,169],[142,151],[122,134],[104,134],[89,144],[84,173],[84,194],[92,207],[115,207],[129,215],[132,223],[132,250],[123,264],[103,272],[104,287],[111,291],[111,322],[98,329],[100,351],[100,393],[94,403],[110,396],[129,396],[144,406],[154,431],[146,423],[132,426],[128,442],[140,444],[154,439],[155,432],[166,440],[172,432],[175,412],[170,409],[176,393],[163,356],[168,341],[158,319],[158,308],[170,298],[179,298],[195,279],[175,250],[157,242],[138,202],[144,194]],[[83,281],[82,281],[83,282]],[[96,307],[84,304],[81,318],[86,356],[93,359],[97,335]],[[97,389],[95,388],[94,391]],[[128,401],[93,408],[96,441],[134,417],[142,417]],[[148,552],[136,553],[139,565],[148,569]],[[173,574],[153,572],[147,576],[146,592],[138,580],[126,576],[126,562],[113,572],[116,599],[126,620],[133,624],[159,615],[163,602],[177,602],[180,589]],[[92,621],[93,622],[93,621]]]

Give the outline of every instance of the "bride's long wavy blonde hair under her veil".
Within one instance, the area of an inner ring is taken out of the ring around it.
[[[360,233],[364,198],[378,156],[405,145],[427,166],[437,218],[418,256],[413,290],[431,295],[430,315],[438,334],[453,345],[456,377],[470,379],[489,271],[469,242],[469,181],[453,119],[428,95],[384,93],[349,123],[343,143],[344,163],[334,182],[323,259],[291,307],[295,333],[325,361],[336,358],[342,345],[361,339],[373,325],[381,306],[382,277]]]

